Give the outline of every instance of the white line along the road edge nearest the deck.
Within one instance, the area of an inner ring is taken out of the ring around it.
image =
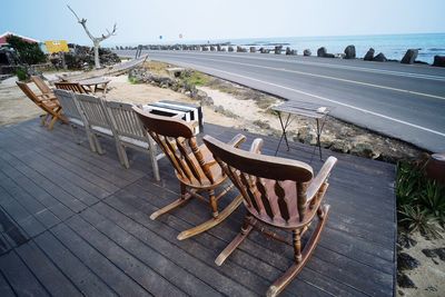
[[[297,89],[285,87],[285,86],[277,85],[277,83],[274,83],[274,82],[268,82],[268,81],[264,81],[264,80],[260,80],[260,79],[256,79],[256,78],[251,78],[251,77],[247,77],[247,76],[243,76],[243,75],[225,71],[225,70],[219,70],[219,69],[211,68],[211,67],[199,66],[199,65],[194,65],[194,63],[188,63],[188,62],[182,62],[182,61],[178,61],[178,62],[180,62],[182,65],[191,66],[194,68],[197,68],[197,67],[198,68],[205,68],[205,69],[209,69],[209,70],[212,70],[212,71],[226,73],[226,75],[229,75],[229,76],[240,77],[240,78],[253,80],[253,81],[257,81],[257,82],[260,82],[260,83],[264,83],[264,85],[269,85],[269,86],[273,86],[273,87],[281,88],[281,89],[285,89],[285,90],[288,90],[288,91],[293,91],[293,92],[296,92],[296,93],[300,93],[300,95],[305,95],[305,96],[308,96],[308,97],[317,98],[317,99],[320,99],[320,100],[324,100],[324,101],[328,101],[328,102],[332,102],[332,103],[344,106],[344,107],[347,107],[347,108],[350,108],[350,109],[354,109],[354,110],[358,110],[358,111],[362,111],[362,112],[365,112],[365,113],[368,113],[368,115],[373,115],[373,116],[376,116],[376,117],[379,117],[379,118],[392,120],[392,121],[395,121],[395,122],[398,122],[398,123],[403,123],[403,125],[406,125],[406,126],[409,126],[409,127],[413,127],[413,128],[416,128],[416,129],[419,129],[419,130],[424,130],[424,131],[427,131],[427,132],[432,132],[432,133],[445,137],[444,132],[439,132],[439,131],[436,131],[436,130],[433,130],[433,129],[429,129],[429,128],[425,128],[425,127],[422,127],[422,126],[418,126],[418,125],[415,125],[415,123],[412,123],[412,122],[408,122],[408,121],[404,121],[404,120],[399,120],[399,119],[396,119],[396,118],[393,118],[393,117],[388,117],[388,116],[385,116],[385,115],[382,115],[382,113],[378,113],[378,112],[375,112],[375,111],[370,111],[370,110],[367,110],[367,109],[364,109],[364,108],[359,108],[359,107],[352,106],[352,105],[348,105],[348,103],[343,103],[343,102],[339,102],[337,100],[328,99],[326,97],[322,97],[322,96],[318,96],[318,95],[309,93],[309,92],[306,92],[306,91],[297,90]]]

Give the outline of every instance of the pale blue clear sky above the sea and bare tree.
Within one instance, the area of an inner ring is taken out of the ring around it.
[[[445,32],[445,0],[2,0],[0,33],[89,44],[67,3],[111,44]]]

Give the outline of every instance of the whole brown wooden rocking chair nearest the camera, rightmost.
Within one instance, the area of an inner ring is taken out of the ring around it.
[[[323,204],[323,198],[337,159],[329,157],[313,178],[313,169],[304,162],[259,155],[261,139],[254,141],[250,152],[229,147],[210,136],[205,136],[204,142],[241,192],[248,210],[240,234],[215,263],[220,266],[260,222],[291,230],[295,264],[269,287],[267,296],[276,296],[303,269],[318,242],[329,210],[329,206]],[[301,247],[301,236],[308,230],[315,215],[318,216],[318,225],[305,247]],[[264,228],[257,229],[264,231]],[[284,240],[269,231],[266,234]]]

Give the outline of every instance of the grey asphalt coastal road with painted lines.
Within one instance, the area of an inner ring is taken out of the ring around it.
[[[289,100],[333,106],[336,118],[433,152],[445,151],[445,68],[260,53],[142,53]]]

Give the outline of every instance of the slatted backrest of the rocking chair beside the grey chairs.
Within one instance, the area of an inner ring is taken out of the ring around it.
[[[139,116],[148,133],[168,157],[182,182],[195,186],[215,182],[210,165],[204,159],[194,130],[187,122],[156,116],[138,107],[132,109]]]

